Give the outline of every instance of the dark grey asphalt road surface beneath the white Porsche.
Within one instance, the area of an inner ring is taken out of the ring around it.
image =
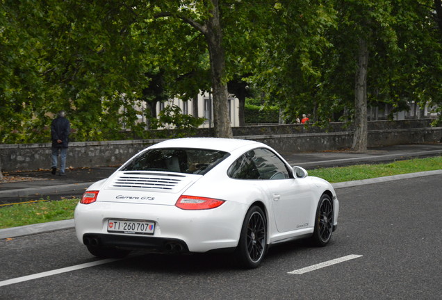
[[[441,182],[435,175],[340,188],[339,226],[327,247],[272,247],[252,270],[229,256],[142,253],[85,267],[103,261],[72,229],[0,240],[0,299],[441,299]],[[289,273],[349,255],[359,257]],[[8,281],[32,274],[40,275]]]

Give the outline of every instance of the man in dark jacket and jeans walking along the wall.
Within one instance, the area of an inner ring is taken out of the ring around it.
[[[64,110],[58,112],[58,117],[51,123],[51,138],[52,138],[52,175],[55,175],[58,167],[58,154],[60,154],[60,176],[65,175],[66,169],[66,154],[67,144],[69,143],[70,133],[69,120],[66,119]]]

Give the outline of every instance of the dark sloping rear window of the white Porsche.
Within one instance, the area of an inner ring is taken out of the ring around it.
[[[229,155],[224,151],[209,149],[150,149],[133,158],[122,171],[164,171],[204,175]]]

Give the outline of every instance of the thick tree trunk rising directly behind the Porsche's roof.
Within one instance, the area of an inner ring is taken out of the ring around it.
[[[213,92],[213,129],[217,138],[232,138],[227,82],[224,80],[225,58],[222,47],[222,30],[218,0],[211,0],[211,17],[206,23],[206,41],[211,62],[211,79]]]

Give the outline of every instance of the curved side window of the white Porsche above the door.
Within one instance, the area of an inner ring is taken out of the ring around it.
[[[247,151],[227,172],[231,178],[277,180],[290,178],[286,164],[268,149]]]

